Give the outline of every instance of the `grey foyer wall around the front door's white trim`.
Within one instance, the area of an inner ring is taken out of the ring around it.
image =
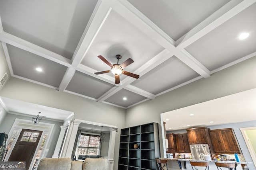
[[[0,124],[0,131],[3,131],[5,133],[9,133],[9,131],[12,128],[12,125],[13,125],[16,118],[17,119],[31,120],[31,122],[32,122],[31,117],[26,117],[26,116],[22,116],[22,115],[7,113],[6,116],[4,117],[4,121]],[[50,121],[50,120],[45,120],[45,119],[42,119],[40,122],[55,124],[54,128],[53,128],[53,131],[52,131],[52,137],[49,141],[50,143],[48,144],[49,151],[46,155],[46,157],[51,158],[53,153],[54,153],[54,149],[55,149],[55,146],[56,146],[59,134],[60,134],[60,126],[62,125],[62,122]]]

